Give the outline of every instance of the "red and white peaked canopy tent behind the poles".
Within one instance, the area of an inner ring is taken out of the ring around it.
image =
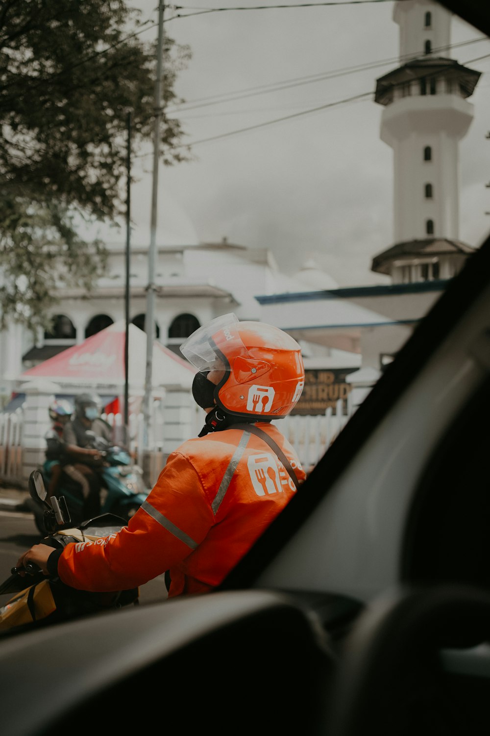
[[[125,371],[126,322],[109,325],[79,345],[73,345],[24,371],[17,387],[37,378],[47,378],[60,386],[60,395],[75,395],[93,391],[106,399],[106,411],[120,411],[126,383]],[[128,389],[131,404],[139,406],[145,392],[146,333],[129,325]],[[195,368],[161,343],[154,342],[152,389],[158,396],[161,389],[191,389]],[[134,409],[133,409],[134,410]]]

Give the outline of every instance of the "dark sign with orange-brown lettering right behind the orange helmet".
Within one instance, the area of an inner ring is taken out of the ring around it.
[[[347,396],[352,386],[345,376],[356,368],[306,369],[305,385],[300,400],[291,414],[325,414],[329,406],[336,413],[336,403],[343,400],[343,411],[347,413]]]

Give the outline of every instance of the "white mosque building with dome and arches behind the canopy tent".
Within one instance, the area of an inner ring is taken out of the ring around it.
[[[135,185],[151,188],[151,180]],[[143,190],[144,191],[144,190]],[[143,200],[144,201],[144,200]],[[151,197],[146,197],[150,202]],[[311,263],[292,279],[278,269],[272,252],[228,243],[199,243],[186,213],[167,191],[159,192],[156,235],[154,305],[156,337],[174,352],[193,330],[215,316],[233,311],[239,319],[260,320],[262,307],[255,294],[275,294],[317,288],[318,279],[336,286]],[[147,308],[150,211],[138,212],[129,249],[129,319],[144,329]],[[138,224],[148,221],[148,226]],[[32,333],[11,325],[0,333],[0,394],[10,396],[21,373],[65,348],[126,316],[126,227],[105,227],[87,233],[104,240],[109,251],[107,275],[90,297],[81,289],[57,291],[60,304],[53,311],[54,330]],[[314,279],[314,285],[311,280]],[[320,350],[325,353],[325,349]]]

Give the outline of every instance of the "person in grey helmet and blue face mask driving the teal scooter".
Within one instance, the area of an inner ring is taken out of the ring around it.
[[[87,518],[100,511],[101,479],[96,469],[103,459],[101,453],[91,446],[93,434],[112,444],[112,428],[99,416],[100,405],[101,400],[96,394],[79,394],[75,398],[75,414],[63,429],[65,451],[72,463],[65,467],[65,473],[82,489]]]

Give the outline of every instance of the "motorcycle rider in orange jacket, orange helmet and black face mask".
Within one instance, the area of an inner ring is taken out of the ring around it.
[[[167,459],[147,500],[118,534],[18,560],[80,590],[123,590],[165,574],[169,598],[220,584],[284,509],[306,474],[271,420],[287,416],[304,385],[300,346],[234,314],[192,333],[181,352],[206,410],[198,437]]]

